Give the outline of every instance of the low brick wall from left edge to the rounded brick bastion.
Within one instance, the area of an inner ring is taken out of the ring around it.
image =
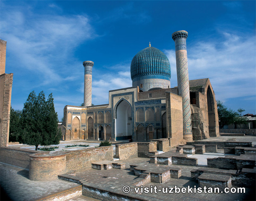
[[[29,169],[29,160],[31,154],[48,153],[42,151],[28,150],[25,148],[2,147],[0,149],[0,162],[14,165],[23,169]]]

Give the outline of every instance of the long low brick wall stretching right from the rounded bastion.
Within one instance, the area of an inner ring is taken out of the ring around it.
[[[90,169],[92,166],[92,162],[101,160],[113,160],[112,146],[65,152],[67,171],[83,171],[86,169]]]

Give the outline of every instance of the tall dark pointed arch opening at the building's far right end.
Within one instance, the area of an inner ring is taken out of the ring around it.
[[[208,89],[207,89],[207,109],[208,109],[208,120],[209,120],[209,136],[216,137],[214,101],[213,101],[213,93],[211,92],[210,86],[208,86]]]

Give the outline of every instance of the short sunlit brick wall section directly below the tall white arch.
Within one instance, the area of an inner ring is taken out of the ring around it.
[[[116,158],[120,160],[138,157],[138,145],[136,142],[116,145]]]

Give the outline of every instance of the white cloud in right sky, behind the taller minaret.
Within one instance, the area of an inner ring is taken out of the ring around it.
[[[166,50],[171,62],[171,85],[177,85],[175,51]],[[221,42],[197,42],[187,49],[189,79],[209,78],[216,99],[256,94],[255,36],[223,33]]]

